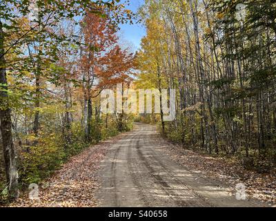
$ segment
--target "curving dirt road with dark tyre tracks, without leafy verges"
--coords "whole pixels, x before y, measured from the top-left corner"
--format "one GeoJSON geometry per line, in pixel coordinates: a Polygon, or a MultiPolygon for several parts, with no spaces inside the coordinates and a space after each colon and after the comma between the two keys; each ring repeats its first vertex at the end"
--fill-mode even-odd
{"type": "Polygon", "coordinates": [[[110,145],[99,171],[99,206],[265,206],[236,200],[226,184],[179,166],[156,128],[135,124],[110,145]]]}

